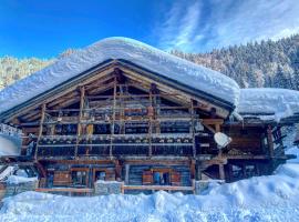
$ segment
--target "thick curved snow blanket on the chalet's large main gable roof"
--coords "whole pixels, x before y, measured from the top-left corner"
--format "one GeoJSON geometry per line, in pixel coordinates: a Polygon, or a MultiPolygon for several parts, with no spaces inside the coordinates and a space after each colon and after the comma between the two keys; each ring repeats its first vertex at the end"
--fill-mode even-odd
{"type": "Polygon", "coordinates": [[[109,59],[123,59],[153,72],[237,104],[239,87],[230,78],[126,38],[107,38],[0,91],[0,113],[79,75],[109,59]]]}

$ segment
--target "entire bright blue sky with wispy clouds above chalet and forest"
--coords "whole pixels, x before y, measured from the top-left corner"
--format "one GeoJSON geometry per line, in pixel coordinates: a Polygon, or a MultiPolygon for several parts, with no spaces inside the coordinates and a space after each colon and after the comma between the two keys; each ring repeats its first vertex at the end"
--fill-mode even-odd
{"type": "Polygon", "coordinates": [[[106,37],[205,52],[299,32],[299,0],[0,0],[0,57],[51,58],[106,37]]]}

